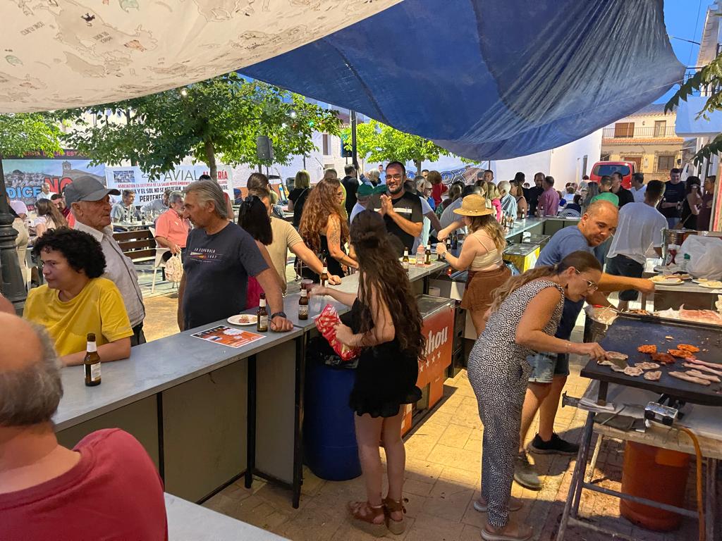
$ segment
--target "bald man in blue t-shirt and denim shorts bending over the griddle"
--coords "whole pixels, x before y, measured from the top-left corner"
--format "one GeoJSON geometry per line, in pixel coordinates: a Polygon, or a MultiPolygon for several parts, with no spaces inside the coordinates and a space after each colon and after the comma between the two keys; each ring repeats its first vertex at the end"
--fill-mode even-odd
{"type": "MultiPolygon", "coordinates": [[[[560,229],[541,250],[536,266],[556,265],[567,255],[578,250],[593,253],[594,247],[601,245],[617,229],[619,208],[609,201],[599,200],[592,203],[576,227],[560,229]]],[[[589,304],[611,306],[604,292],[636,289],[643,293],[654,291],[654,284],[643,278],[626,278],[602,274],[599,284],[591,284],[586,300],[589,304]]],[[[584,302],[564,301],[562,320],[554,335],[569,340],[577,317],[584,302]]],[[[559,408],[562,389],[569,375],[569,356],[567,353],[536,353],[526,359],[531,365],[529,387],[526,389],[521,413],[519,434],[519,454],[516,461],[514,479],[520,485],[539,490],[541,481],[524,450],[524,441],[529,432],[536,412],[539,411],[539,434],[534,436],[529,449],[539,454],[577,454],[578,444],[565,441],[554,432],[554,418],[559,408]]]]}

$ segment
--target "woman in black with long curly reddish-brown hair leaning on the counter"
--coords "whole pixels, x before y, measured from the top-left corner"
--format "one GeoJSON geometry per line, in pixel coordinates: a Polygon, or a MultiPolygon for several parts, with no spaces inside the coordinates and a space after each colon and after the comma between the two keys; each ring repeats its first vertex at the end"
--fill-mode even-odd
{"type": "MultiPolygon", "coordinates": [[[[306,200],[298,233],[303,242],[326,263],[329,275],[344,276],[342,265],[358,268],[358,263],[344,251],[349,225],[342,218],[344,190],[337,178],[324,177],[306,200]]],[[[303,277],[318,281],[318,274],[303,268],[303,277]]]]}

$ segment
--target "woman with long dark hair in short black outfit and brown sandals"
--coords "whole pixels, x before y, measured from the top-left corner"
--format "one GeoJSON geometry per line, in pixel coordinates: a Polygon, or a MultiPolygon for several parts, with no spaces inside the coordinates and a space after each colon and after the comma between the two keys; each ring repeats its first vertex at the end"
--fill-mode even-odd
{"type": "Polygon", "coordinates": [[[362,353],[349,405],[355,410],[356,439],[367,501],[349,503],[355,519],[404,531],[402,488],[406,452],[401,440],[404,404],[421,398],[416,386],[425,351],[422,319],[406,271],[388,241],[380,214],[362,211],[351,226],[351,244],[359,261],[357,294],[335,288],[313,289],[352,307],[351,327],[339,324],[336,338],[362,353]],[[388,494],[381,497],[382,466],[378,443],[386,451],[388,494]]]}

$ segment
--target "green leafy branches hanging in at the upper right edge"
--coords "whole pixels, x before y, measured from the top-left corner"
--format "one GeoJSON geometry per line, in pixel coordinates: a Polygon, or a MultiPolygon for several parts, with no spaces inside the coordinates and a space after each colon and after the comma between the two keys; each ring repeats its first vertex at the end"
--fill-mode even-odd
{"type": "MultiPolygon", "coordinates": [[[[722,110],[722,53],[679,87],[677,93],[664,106],[664,112],[669,113],[679,107],[680,101],[686,102],[688,97],[700,89],[709,92],[709,96],[703,109],[697,113],[697,118],[709,120],[709,114],[722,110]]],[[[722,133],[697,151],[693,157],[695,165],[709,160],[712,154],[720,154],[720,151],[722,151],[722,133]]]]}

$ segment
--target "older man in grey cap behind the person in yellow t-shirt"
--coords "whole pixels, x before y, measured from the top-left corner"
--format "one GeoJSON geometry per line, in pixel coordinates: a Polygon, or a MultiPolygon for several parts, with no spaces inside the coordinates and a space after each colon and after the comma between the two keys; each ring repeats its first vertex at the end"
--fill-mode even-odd
{"type": "Polygon", "coordinates": [[[123,255],[118,242],[113,239],[113,227],[110,225],[110,194],[120,195],[115,189],[105,188],[93,177],[78,177],[65,188],[65,201],[75,216],[74,229],[91,234],[105,255],[105,274],[113,281],[123,296],[128,318],[133,327],[131,346],[145,343],[143,320],[145,307],[138,286],[138,275],[133,261],[123,255]]]}

